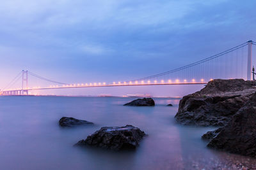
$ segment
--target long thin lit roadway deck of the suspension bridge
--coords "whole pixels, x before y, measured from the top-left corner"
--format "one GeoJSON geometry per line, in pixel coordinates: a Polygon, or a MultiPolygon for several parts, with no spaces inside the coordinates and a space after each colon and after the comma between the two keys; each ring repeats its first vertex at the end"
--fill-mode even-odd
{"type": "Polygon", "coordinates": [[[125,86],[146,86],[146,85],[205,85],[207,82],[186,82],[186,83],[112,83],[112,84],[92,84],[92,85],[63,85],[53,87],[28,87],[25,89],[12,89],[0,91],[2,96],[16,96],[28,94],[29,90],[51,90],[51,89],[74,89],[74,88],[88,88],[88,87],[125,87],[125,86]],[[23,91],[23,92],[22,92],[23,91]]]}

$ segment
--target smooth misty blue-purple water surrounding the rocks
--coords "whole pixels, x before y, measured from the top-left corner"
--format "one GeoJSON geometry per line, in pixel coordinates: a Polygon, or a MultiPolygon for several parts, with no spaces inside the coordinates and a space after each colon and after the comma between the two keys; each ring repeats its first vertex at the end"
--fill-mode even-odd
{"type": "Polygon", "coordinates": [[[0,97],[0,169],[198,169],[254,159],[206,147],[212,127],[175,123],[179,99],[154,98],[155,107],[122,106],[122,97],[0,97]],[[166,104],[173,104],[167,107],[166,104]],[[61,117],[94,126],[61,128],[61,117]],[[134,125],[148,134],[137,150],[77,148],[103,126],[134,125]]]}

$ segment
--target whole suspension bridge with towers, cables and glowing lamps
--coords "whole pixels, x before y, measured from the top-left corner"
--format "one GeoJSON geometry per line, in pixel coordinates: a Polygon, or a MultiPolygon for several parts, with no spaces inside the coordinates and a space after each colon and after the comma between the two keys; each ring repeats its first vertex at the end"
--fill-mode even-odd
{"type": "Polygon", "coordinates": [[[256,56],[253,56],[256,54],[256,48],[254,47],[256,47],[255,41],[247,41],[241,45],[234,46],[223,52],[170,71],[134,80],[113,81],[110,83],[63,83],[39,76],[31,71],[22,70],[6,87],[0,90],[0,96],[23,96],[28,95],[31,90],[47,89],[145,85],[200,85],[206,84],[208,81],[216,78],[243,78],[244,80],[252,80],[252,64],[256,63],[256,56]],[[29,81],[32,78],[35,79],[33,83],[29,81]],[[41,87],[38,85],[39,80],[51,83],[51,85],[45,85],[44,83],[44,87],[41,87]],[[37,84],[35,82],[37,82],[37,84]],[[17,83],[19,83],[19,85],[17,85],[17,83]]]}

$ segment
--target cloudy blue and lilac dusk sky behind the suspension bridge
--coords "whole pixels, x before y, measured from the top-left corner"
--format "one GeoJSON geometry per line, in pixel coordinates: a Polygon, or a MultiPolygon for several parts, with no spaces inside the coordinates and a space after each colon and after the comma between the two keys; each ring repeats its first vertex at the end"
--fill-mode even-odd
{"type": "MultiPolygon", "coordinates": [[[[2,1],[0,89],[22,69],[80,83],[131,80],[184,66],[256,41],[255,6],[253,0],[2,1]]],[[[49,93],[181,96],[202,86],[189,88],[49,93]]]]}

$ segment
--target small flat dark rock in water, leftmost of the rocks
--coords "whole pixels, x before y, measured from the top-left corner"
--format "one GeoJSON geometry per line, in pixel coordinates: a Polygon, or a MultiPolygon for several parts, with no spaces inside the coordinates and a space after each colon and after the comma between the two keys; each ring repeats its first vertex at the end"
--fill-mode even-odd
{"type": "Polygon", "coordinates": [[[74,125],[92,125],[92,122],[87,122],[86,120],[79,120],[72,117],[62,117],[59,120],[59,124],[62,127],[72,127],[74,125]]]}

